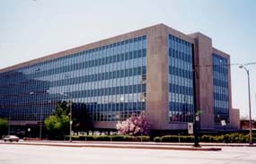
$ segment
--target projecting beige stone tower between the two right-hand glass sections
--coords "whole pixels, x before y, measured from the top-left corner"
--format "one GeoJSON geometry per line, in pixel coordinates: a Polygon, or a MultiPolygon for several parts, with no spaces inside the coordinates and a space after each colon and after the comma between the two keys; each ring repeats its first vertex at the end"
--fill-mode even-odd
{"type": "Polygon", "coordinates": [[[190,35],[195,43],[195,72],[196,72],[196,109],[204,111],[200,116],[201,129],[214,129],[214,84],[213,84],[213,57],[212,39],[201,33],[190,35]]]}

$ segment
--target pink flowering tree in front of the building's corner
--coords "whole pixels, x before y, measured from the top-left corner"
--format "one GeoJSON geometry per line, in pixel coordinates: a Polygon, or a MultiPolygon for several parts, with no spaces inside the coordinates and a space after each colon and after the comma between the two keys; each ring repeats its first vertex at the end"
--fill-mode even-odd
{"type": "Polygon", "coordinates": [[[149,133],[151,123],[144,115],[136,116],[133,114],[127,120],[118,122],[116,126],[119,134],[140,135],[149,133]]]}

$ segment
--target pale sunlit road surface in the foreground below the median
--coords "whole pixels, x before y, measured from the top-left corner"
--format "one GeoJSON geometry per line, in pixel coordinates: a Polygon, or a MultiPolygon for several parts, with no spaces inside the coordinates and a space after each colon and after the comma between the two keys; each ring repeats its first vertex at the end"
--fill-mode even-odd
{"type": "Polygon", "coordinates": [[[0,164],[218,164],[256,163],[256,147],[223,151],[167,151],[0,144],[0,164]]]}

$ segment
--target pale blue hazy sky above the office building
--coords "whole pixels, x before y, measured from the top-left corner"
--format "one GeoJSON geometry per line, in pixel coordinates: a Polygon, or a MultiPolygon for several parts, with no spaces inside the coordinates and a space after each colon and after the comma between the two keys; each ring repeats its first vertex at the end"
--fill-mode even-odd
{"type": "MultiPolygon", "coordinates": [[[[0,0],[0,69],[158,23],[200,31],[232,64],[256,62],[255,0],[0,0]]],[[[256,65],[247,68],[256,119],[256,65]]],[[[231,72],[233,108],[248,117],[247,75],[231,72]]]]}

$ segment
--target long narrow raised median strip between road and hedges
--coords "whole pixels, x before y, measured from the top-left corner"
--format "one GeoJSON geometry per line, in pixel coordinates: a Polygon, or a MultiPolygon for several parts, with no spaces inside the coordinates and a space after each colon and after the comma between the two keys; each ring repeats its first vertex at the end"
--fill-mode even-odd
{"type": "Polygon", "coordinates": [[[0,142],[0,144],[59,146],[59,147],[89,147],[89,148],[119,148],[119,149],[147,149],[147,150],[175,150],[175,151],[221,151],[216,147],[192,147],[192,144],[164,144],[155,142],[0,142]]]}

